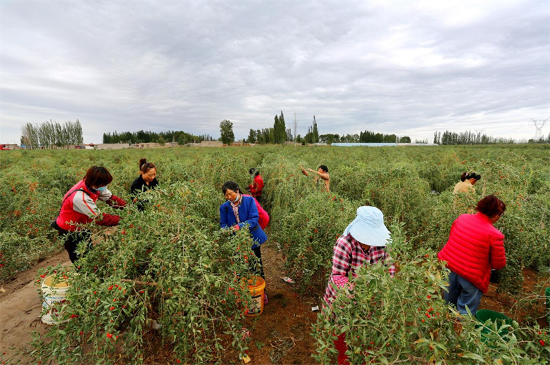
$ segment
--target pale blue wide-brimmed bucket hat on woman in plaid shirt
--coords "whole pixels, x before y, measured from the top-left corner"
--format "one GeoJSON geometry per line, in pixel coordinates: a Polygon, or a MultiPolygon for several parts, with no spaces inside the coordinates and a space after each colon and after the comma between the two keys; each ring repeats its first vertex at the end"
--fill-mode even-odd
{"type": "Polygon", "coordinates": [[[390,231],[384,226],[384,214],[375,207],[359,207],[355,220],[347,226],[344,236],[351,234],[362,244],[375,247],[391,243],[390,231]]]}

